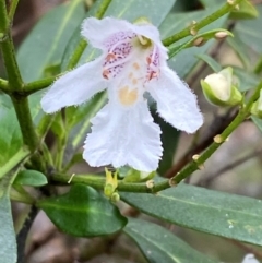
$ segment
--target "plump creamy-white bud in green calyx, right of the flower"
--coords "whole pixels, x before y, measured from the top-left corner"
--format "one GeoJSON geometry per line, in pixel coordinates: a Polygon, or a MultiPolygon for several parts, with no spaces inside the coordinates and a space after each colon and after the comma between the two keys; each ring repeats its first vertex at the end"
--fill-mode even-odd
{"type": "Polygon", "coordinates": [[[201,80],[205,98],[216,106],[235,106],[242,101],[242,95],[233,84],[230,67],[201,80]]]}

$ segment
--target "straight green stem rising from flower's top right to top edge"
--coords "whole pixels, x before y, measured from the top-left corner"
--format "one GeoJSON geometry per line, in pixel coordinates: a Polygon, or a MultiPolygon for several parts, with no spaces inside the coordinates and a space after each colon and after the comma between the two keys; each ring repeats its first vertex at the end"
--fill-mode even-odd
{"type": "Polygon", "coordinates": [[[167,37],[166,39],[163,40],[164,46],[170,46],[171,44],[187,37],[187,36],[191,36],[191,32],[192,29],[194,32],[198,32],[199,29],[201,29],[202,27],[211,24],[212,22],[218,20],[219,17],[222,17],[223,15],[225,15],[226,13],[229,13],[231,10],[235,9],[235,7],[237,4],[239,4],[242,0],[235,0],[234,4],[229,4],[229,3],[225,3],[221,9],[218,9],[217,11],[215,11],[214,13],[212,13],[211,15],[206,16],[205,19],[196,22],[193,25],[188,26],[187,28],[178,32],[177,34],[167,37]]]}

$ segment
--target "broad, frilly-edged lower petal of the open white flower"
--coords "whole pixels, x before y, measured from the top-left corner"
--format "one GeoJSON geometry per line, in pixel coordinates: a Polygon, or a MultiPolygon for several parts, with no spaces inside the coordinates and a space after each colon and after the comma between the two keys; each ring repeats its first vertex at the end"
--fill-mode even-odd
{"type": "Polygon", "coordinates": [[[163,151],[160,129],[153,122],[146,101],[129,109],[109,101],[92,123],[83,153],[91,166],[129,165],[138,170],[156,170],[163,151]]]}

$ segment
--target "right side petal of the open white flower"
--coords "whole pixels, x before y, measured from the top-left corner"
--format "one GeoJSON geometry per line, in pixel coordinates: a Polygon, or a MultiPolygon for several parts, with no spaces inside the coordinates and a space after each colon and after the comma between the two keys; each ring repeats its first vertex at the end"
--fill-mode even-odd
{"type": "Polygon", "coordinates": [[[157,103],[158,113],[175,128],[193,133],[202,125],[195,95],[170,69],[162,68],[159,79],[152,80],[147,91],[157,103]]]}

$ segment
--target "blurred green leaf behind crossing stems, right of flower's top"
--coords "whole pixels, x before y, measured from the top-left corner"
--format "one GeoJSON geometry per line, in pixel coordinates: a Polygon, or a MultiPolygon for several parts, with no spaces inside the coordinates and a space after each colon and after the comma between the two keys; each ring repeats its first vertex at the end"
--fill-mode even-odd
{"type": "MultiPolygon", "coordinates": [[[[204,10],[204,11],[168,14],[166,20],[163,22],[163,24],[159,27],[163,38],[174,35],[175,33],[188,26],[189,22],[193,20],[200,21],[202,17],[205,17],[206,15],[211,14],[215,10],[217,10],[217,7],[213,7],[212,9],[204,10]]],[[[223,17],[218,19],[211,25],[207,25],[204,28],[202,28],[200,33],[219,28],[224,25],[226,20],[227,20],[227,15],[224,15],[223,17]]],[[[181,44],[184,44],[191,38],[192,38],[191,36],[183,38],[182,40],[176,43],[176,45],[179,46],[181,44]]],[[[169,67],[176,70],[179,76],[186,77],[199,62],[199,59],[195,58],[195,56],[205,53],[211,48],[213,43],[214,43],[213,40],[210,40],[202,47],[192,47],[192,48],[182,50],[176,57],[174,57],[168,61],[169,67]]]]}

